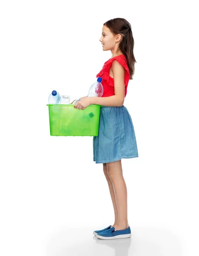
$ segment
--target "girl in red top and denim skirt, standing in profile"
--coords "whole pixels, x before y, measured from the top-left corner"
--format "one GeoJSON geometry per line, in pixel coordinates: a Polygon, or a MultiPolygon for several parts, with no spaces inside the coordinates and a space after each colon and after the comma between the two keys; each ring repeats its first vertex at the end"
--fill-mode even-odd
{"type": "Polygon", "coordinates": [[[100,239],[118,239],[131,236],[127,219],[127,189],[122,175],[122,158],[138,157],[136,137],[131,116],[123,105],[129,79],[133,79],[134,38],[131,25],[123,18],[103,24],[99,39],[103,51],[111,51],[96,77],[102,78],[102,97],[82,97],[74,108],[84,110],[91,104],[101,105],[99,134],[93,137],[93,154],[96,163],[103,164],[113,202],[115,221],[112,226],[95,230],[100,239]]]}

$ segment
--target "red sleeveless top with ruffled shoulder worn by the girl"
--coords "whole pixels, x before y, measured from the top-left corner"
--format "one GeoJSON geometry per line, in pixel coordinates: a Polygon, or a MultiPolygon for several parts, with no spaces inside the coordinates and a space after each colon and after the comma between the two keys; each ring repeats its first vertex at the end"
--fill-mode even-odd
{"type": "Polygon", "coordinates": [[[119,62],[119,64],[121,64],[125,68],[125,79],[124,79],[125,96],[127,94],[127,86],[128,86],[128,81],[130,79],[130,72],[128,69],[126,57],[125,57],[125,55],[121,54],[119,56],[110,58],[108,61],[106,61],[104,66],[102,67],[102,70],[96,76],[97,78],[98,77],[102,78],[102,82],[101,82],[102,86],[103,86],[102,97],[108,97],[108,96],[115,95],[114,79],[111,76],[109,76],[109,71],[110,71],[111,65],[115,59],[119,62]]]}

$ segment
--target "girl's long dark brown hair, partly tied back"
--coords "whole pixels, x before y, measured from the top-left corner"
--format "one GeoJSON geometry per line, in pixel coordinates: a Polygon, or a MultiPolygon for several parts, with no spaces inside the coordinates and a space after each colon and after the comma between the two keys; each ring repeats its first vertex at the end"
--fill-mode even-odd
{"type": "Polygon", "coordinates": [[[134,57],[134,38],[131,31],[131,24],[123,18],[115,18],[106,21],[103,25],[107,26],[114,35],[122,35],[122,40],[119,43],[118,49],[120,49],[126,57],[130,72],[130,80],[132,80],[135,72],[136,60],[134,57]]]}

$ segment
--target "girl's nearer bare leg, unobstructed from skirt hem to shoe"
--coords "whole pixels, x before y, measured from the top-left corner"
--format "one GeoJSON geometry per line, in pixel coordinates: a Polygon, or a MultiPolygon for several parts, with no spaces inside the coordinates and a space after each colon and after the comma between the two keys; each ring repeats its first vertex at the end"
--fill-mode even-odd
{"type": "Polygon", "coordinates": [[[124,230],[128,228],[127,219],[127,188],[122,174],[121,160],[117,162],[107,163],[108,175],[112,181],[117,209],[118,209],[118,221],[115,226],[115,230],[124,230]]]}

